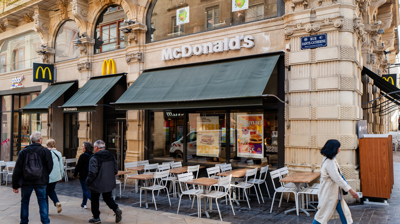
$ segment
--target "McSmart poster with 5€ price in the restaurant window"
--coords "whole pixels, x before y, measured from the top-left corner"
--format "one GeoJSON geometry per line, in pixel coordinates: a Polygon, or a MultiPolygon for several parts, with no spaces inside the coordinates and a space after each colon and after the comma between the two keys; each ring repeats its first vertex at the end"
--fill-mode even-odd
{"type": "Polygon", "coordinates": [[[264,158],[264,115],[237,115],[238,157],[264,158]]]}

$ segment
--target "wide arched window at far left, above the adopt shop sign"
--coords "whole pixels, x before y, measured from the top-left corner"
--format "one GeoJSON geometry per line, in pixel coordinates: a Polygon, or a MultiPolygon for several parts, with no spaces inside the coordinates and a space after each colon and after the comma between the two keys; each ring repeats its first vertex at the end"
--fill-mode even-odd
{"type": "Polygon", "coordinates": [[[35,32],[7,40],[0,50],[0,73],[31,68],[40,62],[36,50],[41,47],[41,38],[35,32]]]}

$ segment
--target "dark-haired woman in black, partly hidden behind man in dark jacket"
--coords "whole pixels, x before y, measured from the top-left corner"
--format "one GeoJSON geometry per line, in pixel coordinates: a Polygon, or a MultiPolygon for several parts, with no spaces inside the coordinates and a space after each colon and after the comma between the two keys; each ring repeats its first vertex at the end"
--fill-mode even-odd
{"type": "Polygon", "coordinates": [[[84,142],[82,145],[82,154],[79,156],[78,162],[75,166],[74,178],[76,178],[79,174],[79,182],[81,182],[82,192],[83,192],[83,200],[81,204],[81,208],[87,209],[86,203],[90,198],[90,193],[88,192],[88,188],[86,186],[86,177],[88,176],[89,170],[89,160],[90,156],[93,154],[93,145],[90,142],[84,142]]]}

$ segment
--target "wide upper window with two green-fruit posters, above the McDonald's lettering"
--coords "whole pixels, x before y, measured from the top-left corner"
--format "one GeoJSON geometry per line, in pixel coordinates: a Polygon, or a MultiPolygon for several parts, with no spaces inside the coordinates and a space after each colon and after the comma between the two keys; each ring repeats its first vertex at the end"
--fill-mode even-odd
{"type": "Polygon", "coordinates": [[[277,16],[279,0],[154,0],[147,42],[236,26],[277,16]]]}

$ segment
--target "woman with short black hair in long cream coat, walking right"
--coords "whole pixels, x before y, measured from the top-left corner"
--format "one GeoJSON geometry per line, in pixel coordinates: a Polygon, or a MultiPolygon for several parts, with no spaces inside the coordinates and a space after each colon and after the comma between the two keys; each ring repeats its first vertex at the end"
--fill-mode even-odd
{"type": "Polygon", "coordinates": [[[337,218],[337,214],[342,223],[353,223],[350,209],[343,198],[343,192],[350,192],[353,198],[358,198],[358,194],[351,189],[336,161],[335,156],[340,151],[341,143],[335,139],[328,140],[321,149],[324,158],[320,169],[318,211],[314,216],[313,224],[327,223],[329,219],[337,218]]]}

